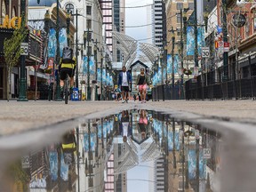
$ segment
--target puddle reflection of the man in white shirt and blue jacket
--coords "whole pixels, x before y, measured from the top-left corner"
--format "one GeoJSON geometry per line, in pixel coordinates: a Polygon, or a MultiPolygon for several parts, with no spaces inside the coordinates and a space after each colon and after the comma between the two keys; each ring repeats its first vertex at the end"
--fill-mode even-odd
{"type": "Polygon", "coordinates": [[[131,126],[129,123],[129,112],[128,110],[122,111],[121,124],[119,127],[119,134],[123,136],[123,141],[127,141],[127,137],[132,135],[131,126]]]}

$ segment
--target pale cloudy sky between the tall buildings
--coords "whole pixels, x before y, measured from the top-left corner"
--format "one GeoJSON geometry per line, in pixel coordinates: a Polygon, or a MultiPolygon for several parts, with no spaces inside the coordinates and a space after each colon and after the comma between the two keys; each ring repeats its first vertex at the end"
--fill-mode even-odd
{"type": "MultiPolygon", "coordinates": [[[[125,6],[141,6],[152,4],[153,0],[125,0],[125,6]]],[[[152,21],[150,21],[152,23],[152,21]]],[[[147,6],[140,8],[125,9],[125,26],[140,26],[149,24],[147,21],[147,6]]],[[[145,39],[148,37],[147,27],[142,28],[125,28],[125,34],[132,36],[134,39],[145,39]]]]}

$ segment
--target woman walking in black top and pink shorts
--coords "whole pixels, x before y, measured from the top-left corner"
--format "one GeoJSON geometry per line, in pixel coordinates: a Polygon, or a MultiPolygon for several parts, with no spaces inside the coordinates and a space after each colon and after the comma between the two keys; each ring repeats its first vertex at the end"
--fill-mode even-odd
{"type": "Polygon", "coordinates": [[[148,76],[145,74],[145,69],[140,68],[140,74],[137,76],[137,86],[139,86],[141,103],[146,102],[148,85],[149,85],[149,81],[148,81],[148,76]]]}

